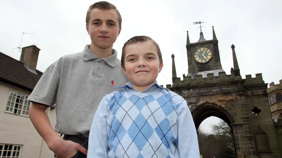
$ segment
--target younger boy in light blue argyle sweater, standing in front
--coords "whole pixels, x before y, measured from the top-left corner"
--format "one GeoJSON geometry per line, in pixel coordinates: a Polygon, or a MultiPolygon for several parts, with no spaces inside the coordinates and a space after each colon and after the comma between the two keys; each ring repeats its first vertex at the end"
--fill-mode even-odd
{"type": "Polygon", "coordinates": [[[122,48],[129,82],[103,97],[89,134],[88,158],[199,158],[196,128],[186,101],[158,85],[162,55],[147,36],[122,48]]]}

